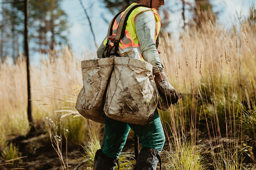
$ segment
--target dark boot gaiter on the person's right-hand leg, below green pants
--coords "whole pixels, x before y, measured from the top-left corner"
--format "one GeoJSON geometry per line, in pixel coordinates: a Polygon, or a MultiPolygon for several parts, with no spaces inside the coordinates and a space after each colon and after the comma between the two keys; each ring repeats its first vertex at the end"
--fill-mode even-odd
{"type": "Polygon", "coordinates": [[[160,162],[160,170],[162,169],[161,154],[155,149],[143,147],[140,150],[134,170],[156,170],[158,161],[160,162]]]}

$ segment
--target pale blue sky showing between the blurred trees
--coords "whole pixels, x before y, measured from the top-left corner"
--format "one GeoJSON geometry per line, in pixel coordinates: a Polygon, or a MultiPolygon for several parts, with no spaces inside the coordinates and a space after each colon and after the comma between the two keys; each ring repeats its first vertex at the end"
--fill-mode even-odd
{"type": "MultiPolygon", "coordinates": [[[[103,17],[105,20],[110,22],[113,15],[104,8],[104,4],[100,3],[100,0],[82,0],[82,2],[91,18],[92,27],[96,36],[96,42],[99,45],[102,39],[106,36],[108,30],[108,23],[104,21],[103,17]]],[[[186,0],[186,2],[193,3],[193,0],[186,0]]],[[[256,0],[211,0],[211,3],[214,6],[213,10],[220,12],[218,16],[219,21],[226,27],[230,27],[232,24],[237,22],[236,12],[240,15],[241,11],[242,16],[248,16],[249,9],[252,7],[252,4],[254,4],[255,7],[256,0]]],[[[81,52],[87,49],[95,50],[96,48],[91,35],[89,23],[79,1],[64,0],[62,5],[64,11],[66,11],[68,14],[71,26],[68,38],[74,52],[81,54],[81,52]]],[[[173,8],[173,12],[170,15],[171,24],[168,31],[175,33],[183,22],[181,18],[180,0],[165,0],[165,5],[163,7],[173,8]]],[[[159,13],[161,15],[161,8],[159,13]]],[[[189,13],[187,12],[186,18],[189,19],[189,17],[189,13]]]]}

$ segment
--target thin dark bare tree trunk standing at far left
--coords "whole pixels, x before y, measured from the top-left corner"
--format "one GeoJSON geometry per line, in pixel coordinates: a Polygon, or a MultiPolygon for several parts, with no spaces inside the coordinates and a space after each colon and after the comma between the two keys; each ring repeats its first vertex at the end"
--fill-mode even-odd
{"type": "Polygon", "coordinates": [[[31,92],[30,92],[30,74],[29,74],[29,51],[28,51],[28,0],[24,0],[25,14],[25,31],[24,31],[24,52],[27,59],[27,82],[28,82],[28,122],[30,131],[29,134],[35,132],[34,121],[32,118],[31,92]]]}

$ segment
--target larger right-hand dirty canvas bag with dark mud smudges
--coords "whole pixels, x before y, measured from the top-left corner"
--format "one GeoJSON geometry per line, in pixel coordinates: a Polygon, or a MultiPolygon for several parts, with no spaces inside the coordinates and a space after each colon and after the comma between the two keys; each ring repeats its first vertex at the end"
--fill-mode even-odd
{"type": "Polygon", "coordinates": [[[114,58],[104,107],[108,117],[139,125],[154,120],[158,96],[152,68],[151,64],[142,60],[114,58]]]}

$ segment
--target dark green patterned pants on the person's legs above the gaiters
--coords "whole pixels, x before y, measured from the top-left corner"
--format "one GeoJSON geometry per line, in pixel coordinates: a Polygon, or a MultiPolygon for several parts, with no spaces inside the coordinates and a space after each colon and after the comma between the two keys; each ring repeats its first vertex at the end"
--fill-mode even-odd
{"type": "Polygon", "coordinates": [[[125,123],[111,119],[105,115],[105,141],[102,152],[112,158],[121,153],[130,128],[140,138],[142,147],[149,147],[161,152],[164,147],[164,130],[157,109],[154,121],[146,125],[125,123]]]}

